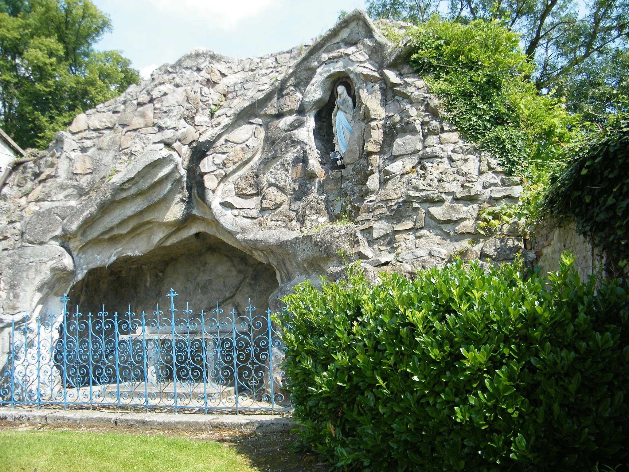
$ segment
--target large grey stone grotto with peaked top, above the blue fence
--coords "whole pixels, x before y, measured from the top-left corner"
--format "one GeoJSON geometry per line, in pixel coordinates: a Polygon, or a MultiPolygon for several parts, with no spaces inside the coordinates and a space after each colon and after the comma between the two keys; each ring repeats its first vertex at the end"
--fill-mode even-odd
{"type": "Polygon", "coordinates": [[[11,320],[60,313],[64,293],[84,310],[148,311],[170,287],[195,310],[277,310],[294,284],[342,276],[343,257],[375,281],[523,252],[517,224],[474,225],[519,179],[465,142],[405,57],[354,11],[287,52],[193,50],[76,116],[0,195],[0,364],[11,320]]]}

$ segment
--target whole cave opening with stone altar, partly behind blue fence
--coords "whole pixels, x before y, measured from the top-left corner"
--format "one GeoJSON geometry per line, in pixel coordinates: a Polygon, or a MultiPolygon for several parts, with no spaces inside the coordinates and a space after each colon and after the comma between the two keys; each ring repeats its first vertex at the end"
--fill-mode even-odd
{"type": "Polygon", "coordinates": [[[195,233],[88,271],[68,293],[53,362],[69,388],[144,382],[150,390],[176,381],[222,389],[237,377],[241,391],[259,398],[269,369],[255,356],[268,340],[265,310],[278,286],[272,266],[195,233]],[[171,288],[179,294],[174,313],[171,288]]]}

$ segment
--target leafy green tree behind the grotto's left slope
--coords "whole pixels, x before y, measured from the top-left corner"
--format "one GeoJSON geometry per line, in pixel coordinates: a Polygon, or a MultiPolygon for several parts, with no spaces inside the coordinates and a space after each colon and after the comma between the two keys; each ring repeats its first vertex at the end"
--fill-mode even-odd
{"type": "Polygon", "coordinates": [[[23,147],[45,147],[72,118],[139,81],[89,0],[0,0],[0,120],[23,147]]]}

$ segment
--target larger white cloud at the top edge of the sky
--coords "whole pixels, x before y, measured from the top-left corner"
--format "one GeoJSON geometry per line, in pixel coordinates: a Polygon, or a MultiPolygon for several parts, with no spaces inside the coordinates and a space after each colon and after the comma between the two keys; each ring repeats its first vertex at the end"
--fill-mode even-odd
{"type": "Polygon", "coordinates": [[[255,16],[277,0],[143,0],[163,11],[189,18],[203,18],[208,26],[230,29],[238,21],[255,16]]]}

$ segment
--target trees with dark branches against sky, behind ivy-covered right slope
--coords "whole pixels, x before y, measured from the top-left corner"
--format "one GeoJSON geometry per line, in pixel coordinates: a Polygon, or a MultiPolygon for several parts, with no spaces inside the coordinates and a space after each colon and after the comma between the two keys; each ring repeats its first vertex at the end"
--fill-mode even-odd
{"type": "MultiPolygon", "coordinates": [[[[613,87],[617,80],[612,76],[622,72],[613,64],[626,57],[629,47],[626,0],[367,0],[367,11],[413,23],[440,12],[464,23],[499,20],[520,35],[522,50],[536,66],[532,80],[537,89],[567,92],[573,108],[579,108],[581,91],[567,84],[582,85],[589,76],[609,72],[610,77],[599,80],[613,87]]],[[[614,106],[609,102],[603,108],[614,106]]]]}

